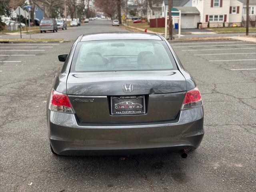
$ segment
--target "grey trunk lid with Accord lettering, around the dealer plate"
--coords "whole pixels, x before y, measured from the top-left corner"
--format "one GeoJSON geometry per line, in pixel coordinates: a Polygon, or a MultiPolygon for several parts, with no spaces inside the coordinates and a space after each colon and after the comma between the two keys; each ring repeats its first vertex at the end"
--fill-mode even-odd
{"type": "Polygon", "coordinates": [[[81,123],[156,122],[176,118],[186,80],[178,70],[70,73],[67,94],[81,123]],[[124,92],[125,84],[132,92],[124,92]],[[112,114],[112,96],[145,96],[145,114],[112,114]]]}

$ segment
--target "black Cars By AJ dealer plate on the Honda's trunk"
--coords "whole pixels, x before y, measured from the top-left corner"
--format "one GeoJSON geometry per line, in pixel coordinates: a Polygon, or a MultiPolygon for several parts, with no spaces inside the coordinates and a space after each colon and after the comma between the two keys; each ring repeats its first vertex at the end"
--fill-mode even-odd
{"type": "Polygon", "coordinates": [[[145,114],[145,96],[111,97],[112,115],[145,114]]]}

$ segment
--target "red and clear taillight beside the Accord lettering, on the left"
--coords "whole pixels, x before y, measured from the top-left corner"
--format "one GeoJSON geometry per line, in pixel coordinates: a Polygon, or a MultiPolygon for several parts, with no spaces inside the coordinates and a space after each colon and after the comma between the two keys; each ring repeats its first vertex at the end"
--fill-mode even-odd
{"type": "Polygon", "coordinates": [[[74,113],[68,96],[55,90],[52,90],[49,109],[58,112],[74,113]]]}

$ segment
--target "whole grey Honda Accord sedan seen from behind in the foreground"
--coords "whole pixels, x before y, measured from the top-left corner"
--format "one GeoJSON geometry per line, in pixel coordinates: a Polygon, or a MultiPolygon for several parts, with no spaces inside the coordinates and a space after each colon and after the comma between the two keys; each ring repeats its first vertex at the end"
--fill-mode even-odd
{"type": "Polygon", "coordinates": [[[162,36],[81,35],[58,57],[64,65],[47,104],[54,154],[186,157],[200,145],[200,92],[162,36]]]}

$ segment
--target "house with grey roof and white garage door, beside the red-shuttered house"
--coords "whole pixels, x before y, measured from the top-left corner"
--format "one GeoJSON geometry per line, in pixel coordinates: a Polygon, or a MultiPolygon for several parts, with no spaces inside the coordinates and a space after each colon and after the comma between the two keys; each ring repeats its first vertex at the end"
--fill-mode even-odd
{"type": "MultiPolygon", "coordinates": [[[[181,28],[196,28],[200,21],[200,12],[196,7],[192,7],[192,0],[173,0],[173,7],[181,11],[181,28]]],[[[168,0],[163,0],[162,17],[168,11],[168,0]]],[[[173,24],[178,23],[177,18],[173,18],[173,24]]]]}

